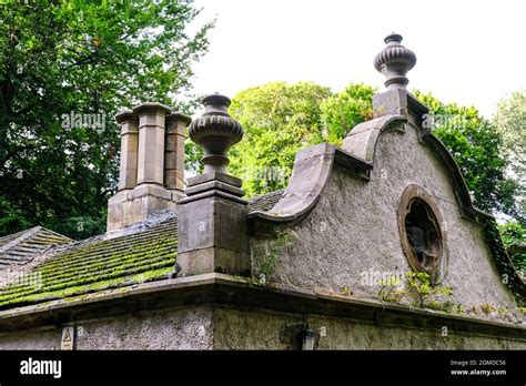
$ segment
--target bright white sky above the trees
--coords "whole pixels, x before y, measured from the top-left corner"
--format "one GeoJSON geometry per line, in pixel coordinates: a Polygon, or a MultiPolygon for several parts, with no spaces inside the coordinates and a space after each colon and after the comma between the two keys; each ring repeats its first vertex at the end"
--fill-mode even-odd
{"type": "Polygon", "coordinates": [[[196,0],[195,26],[216,19],[195,65],[198,94],[230,98],[271,81],[350,82],[384,90],[373,67],[391,32],[416,53],[408,89],[475,105],[490,118],[526,89],[525,0],[196,0]]]}

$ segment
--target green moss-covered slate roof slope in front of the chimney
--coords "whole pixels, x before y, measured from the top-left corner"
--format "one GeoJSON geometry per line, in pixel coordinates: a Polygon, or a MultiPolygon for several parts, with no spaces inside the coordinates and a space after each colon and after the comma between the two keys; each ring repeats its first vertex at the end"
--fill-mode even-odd
{"type": "Polygon", "coordinates": [[[176,252],[175,219],[115,238],[61,246],[0,287],[0,309],[166,278],[174,271],[176,252]]]}

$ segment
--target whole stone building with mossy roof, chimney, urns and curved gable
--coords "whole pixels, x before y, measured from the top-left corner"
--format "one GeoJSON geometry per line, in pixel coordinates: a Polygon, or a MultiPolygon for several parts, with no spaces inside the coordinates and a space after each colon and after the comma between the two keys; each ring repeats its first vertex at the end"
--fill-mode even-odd
{"type": "Polygon", "coordinates": [[[406,90],[401,41],[374,61],[374,119],[250,201],[226,170],[243,136],[227,98],[193,122],[159,103],[119,114],[108,233],[0,238],[0,347],[526,348],[525,284],[406,90]],[[204,173],[184,185],[189,124],[204,173]]]}

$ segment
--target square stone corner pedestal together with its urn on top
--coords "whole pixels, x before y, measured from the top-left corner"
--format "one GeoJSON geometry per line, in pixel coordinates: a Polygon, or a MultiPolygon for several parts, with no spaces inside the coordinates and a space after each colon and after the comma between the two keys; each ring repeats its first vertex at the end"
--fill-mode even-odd
{"type": "Polygon", "coordinates": [[[179,205],[180,275],[247,275],[247,202],[241,180],[226,173],[227,151],[241,141],[243,130],[229,115],[229,98],[209,95],[203,104],[203,115],[190,125],[190,139],[203,148],[204,173],[189,179],[179,205]]]}

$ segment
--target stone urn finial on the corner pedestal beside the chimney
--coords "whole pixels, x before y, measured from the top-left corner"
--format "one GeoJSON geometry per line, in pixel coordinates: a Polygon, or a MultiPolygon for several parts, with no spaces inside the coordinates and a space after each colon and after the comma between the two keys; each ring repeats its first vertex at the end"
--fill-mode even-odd
{"type": "Polygon", "coordinates": [[[204,113],[190,124],[190,139],[203,148],[204,172],[226,173],[226,152],[243,138],[240,122],[229,115],[230,99],[214,93],[203,98],[204,113]]]}

